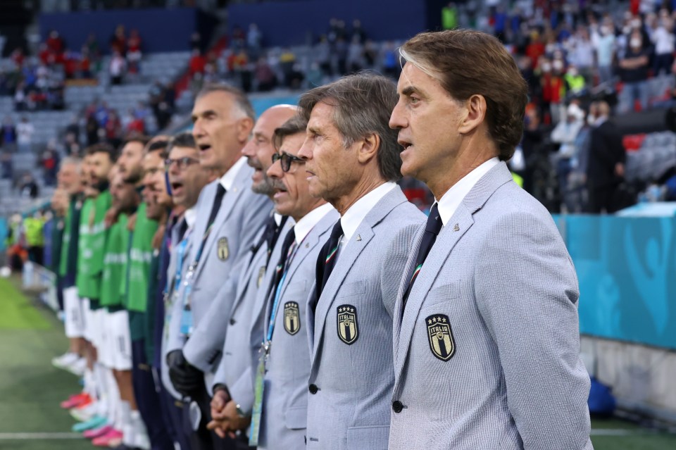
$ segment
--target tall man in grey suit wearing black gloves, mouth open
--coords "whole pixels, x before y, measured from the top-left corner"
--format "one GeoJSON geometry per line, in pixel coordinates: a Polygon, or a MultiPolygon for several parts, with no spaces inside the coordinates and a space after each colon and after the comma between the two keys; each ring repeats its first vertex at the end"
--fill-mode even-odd
{"type": "MultiPolygon", "coordinates": [[[[272,207],[270,200],[251,190],[253,170],[242,148],[253,127],[253,108],[244,93],[228,85],[208,85],[197,95],[192,133],[204,168],[219,178],[202,190],[195,206],[196,222],[189,236],[184,278],[169,324],[169,375],[175,389],[192,401],[184,413],[196,432],[194,449],[223,447],[206,430],[210,420],[213,373],[218,367],[232,297],[223,296],[234,268],[249,248],[272,207]]],[[[226,445],[233,448],[234,444],[226,445]]]]}

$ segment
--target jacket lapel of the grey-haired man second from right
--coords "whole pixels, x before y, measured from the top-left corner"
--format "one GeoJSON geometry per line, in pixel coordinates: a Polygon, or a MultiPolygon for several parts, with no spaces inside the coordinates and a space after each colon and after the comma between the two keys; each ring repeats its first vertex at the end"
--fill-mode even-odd
{"type": "Polygon", "coordinates": [[[392,191],[385,194],[382,199],[366,214],[364,220],[357,227],[354,235],[346,244],[344,249],[338,254],[338,261],[333,268],[333,272],[326,282],[326,286],[322,291],[322,296],[318,300],[317,310],[315,313],[315,330],[320,332],[320,335],[313,335],[313,358],[318,355],[319,344],[322,340],[323,330],[327,318],[327,314],[333,304],[336,295],[343,282],[351,270],[354,262],[357,260],[361,252],[366,248],[373,236],[373,227],[380,223],[396,206],[408,201],[406,196],[401,192],[399,186],[394,187],[392,191]]]}

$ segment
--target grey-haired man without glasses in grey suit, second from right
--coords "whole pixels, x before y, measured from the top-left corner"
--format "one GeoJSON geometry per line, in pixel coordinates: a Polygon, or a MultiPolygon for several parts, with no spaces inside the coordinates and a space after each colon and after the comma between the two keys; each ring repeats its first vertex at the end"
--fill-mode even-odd
{"type": "Polygon", "coordinates": [[[387,448],[394,299],[425,219],[395,183],[401,148],[387,125],[394,104],[394,83],[373,74],[299,101],[308,127],[298,156],[310,193],[340,213],[308,299],[308,449],[387,448]]]}

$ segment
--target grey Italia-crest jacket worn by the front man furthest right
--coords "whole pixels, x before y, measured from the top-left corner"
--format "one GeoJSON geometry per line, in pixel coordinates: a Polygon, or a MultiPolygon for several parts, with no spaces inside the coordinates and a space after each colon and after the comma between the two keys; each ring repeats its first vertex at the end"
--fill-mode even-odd
{"type": "Polygon", "coordinates": [[[394,320],[390,449],[592,449],[577,277],[505,163],[465,196],[394,320]]]}

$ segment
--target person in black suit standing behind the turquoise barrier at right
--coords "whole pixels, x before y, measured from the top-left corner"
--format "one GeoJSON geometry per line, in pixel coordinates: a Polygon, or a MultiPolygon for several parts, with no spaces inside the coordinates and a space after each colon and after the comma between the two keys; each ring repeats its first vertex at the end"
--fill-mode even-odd
{"type": "Polygon", "coordinates": [[[622,135],[610,120],[611,108],[605,101],[599,102],[597,114],[589,136],[589,212],[614,213],[624,206],[620,185],[625,177],[627,154],[622,146],[622,135]]]}

